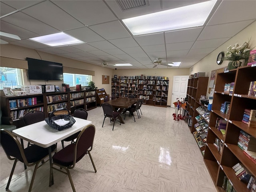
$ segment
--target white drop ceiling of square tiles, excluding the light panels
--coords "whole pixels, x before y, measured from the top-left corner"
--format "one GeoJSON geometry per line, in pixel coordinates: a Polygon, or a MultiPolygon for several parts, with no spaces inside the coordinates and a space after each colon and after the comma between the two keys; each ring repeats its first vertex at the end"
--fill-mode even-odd
{"type": "Polygon", "coordinates": [[[255,0],[218,0],[203,26],[156,34],[133,36],[122,19],[199,2],[203,1],[149,0],[123,10],[115,0],[1,0],[0,30],[16,34],[21,40],[1,39],[85,64],[101,66],[105,61],[106,67],[113,69],[152,68],[156,58],[165,63],[182,62],[172,68],[190,68],[256,21],[255,0]],[[28,40],[61,31],[85,43],[50,47],[28,40]],[[133,66],[112,66],[117,63],[133,66]]]}

